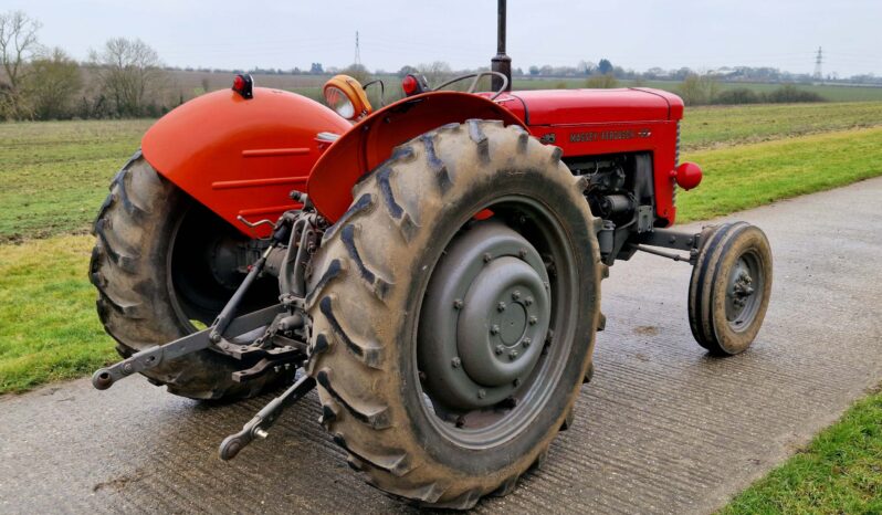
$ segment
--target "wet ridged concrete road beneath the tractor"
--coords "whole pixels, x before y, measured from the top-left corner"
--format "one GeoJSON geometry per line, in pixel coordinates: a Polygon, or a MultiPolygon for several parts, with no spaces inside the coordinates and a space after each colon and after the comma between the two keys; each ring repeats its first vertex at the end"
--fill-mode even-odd
{"type": "MultiPolygon", "coordinates": [[[[690,267],[638,255],[605,283],[607,330],[575,427],[486,513],[707,513],[882,380],[882,178],[739,213],[775,254],[753,348],[708,357],[690,267]]],[[[0,512],[389,513],[318,425],[314,395],[231,463],[218,443],[266,401],[207,406],[140,378],[0,398],[0,512]]]]}

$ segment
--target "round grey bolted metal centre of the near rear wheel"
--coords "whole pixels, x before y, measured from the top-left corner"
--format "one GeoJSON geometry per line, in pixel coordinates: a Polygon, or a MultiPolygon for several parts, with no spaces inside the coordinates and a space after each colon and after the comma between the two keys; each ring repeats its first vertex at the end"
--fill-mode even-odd
{"type": "Polygon", "coordinates": [[[459,235],[432,273],[420,316],[424,386],[447,408],[511,397],[542,355],[548,275],[529,242],[500,222],[459,235]]]}

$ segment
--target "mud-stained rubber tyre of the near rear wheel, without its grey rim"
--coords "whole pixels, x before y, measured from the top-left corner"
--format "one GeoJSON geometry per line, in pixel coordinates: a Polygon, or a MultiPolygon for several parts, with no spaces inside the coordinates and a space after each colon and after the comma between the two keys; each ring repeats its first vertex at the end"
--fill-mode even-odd
{"type": "Polygon", "coordinates": [[[318,382],[322,423],[371,484],[420,505],[469,508],[512,491],[571,420],[601,325],[606,274],[581,186],[558,148],[521,127],[481,120],[412,139],[356,185],[355,201],[313,261],[308,372],[318,382]],[[571,285],[553,280],[550,290],[569,295],[578,316],[554,335],[550,353],[559,358],[559,346],[566,359],[554,365],[538,416],[507,440],[469,448],[442,435],[427,412],[414,358],[419,312],[459,228],[489,199],[517,195],[557,220],[574,275],[571,285]]]}

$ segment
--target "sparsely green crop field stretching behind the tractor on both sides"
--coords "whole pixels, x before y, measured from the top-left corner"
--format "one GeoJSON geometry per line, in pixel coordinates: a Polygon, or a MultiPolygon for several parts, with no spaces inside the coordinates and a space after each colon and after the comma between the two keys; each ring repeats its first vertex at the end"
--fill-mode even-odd
{"type": "MultiPolygon", "coordinates": [[[[111,178],[150,124],[0,124],[0,243],[86,232],[111,178]]],[[[882,102],[695,107],[686,109],[682,139],[693,151],[878,125],[882,102]]]]}

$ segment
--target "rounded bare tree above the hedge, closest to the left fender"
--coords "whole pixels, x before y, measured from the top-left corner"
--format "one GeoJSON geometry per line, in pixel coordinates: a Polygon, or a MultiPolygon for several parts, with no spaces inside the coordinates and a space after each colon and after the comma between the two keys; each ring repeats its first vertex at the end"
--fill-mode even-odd
{"type": "Polygon", "coordinates": [[[115,38],[90,56],[116,114],[143,115],[165,76],[156,51],[139,39],[115,38]]]}

